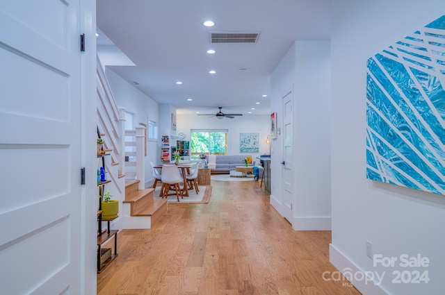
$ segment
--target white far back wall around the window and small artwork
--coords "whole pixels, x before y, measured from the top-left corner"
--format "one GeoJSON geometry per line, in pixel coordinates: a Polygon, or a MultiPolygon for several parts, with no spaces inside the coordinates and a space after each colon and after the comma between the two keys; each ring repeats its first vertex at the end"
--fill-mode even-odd
{"type": "Polygon", "coordinates": [[[240,133],[259,133],[259,153],[249,153],[258,163],[257,157],[269,153],[269,145],[266,144],[269,134],[269,118],[269,115],[243,115],[233,119],[216,119],[215,117],[178,114],[177,133],[183,132],[186,135],[185,140],[190,140],[191,129],[228,129],[228,155],[241,154],[239,152],[240,133]]]}

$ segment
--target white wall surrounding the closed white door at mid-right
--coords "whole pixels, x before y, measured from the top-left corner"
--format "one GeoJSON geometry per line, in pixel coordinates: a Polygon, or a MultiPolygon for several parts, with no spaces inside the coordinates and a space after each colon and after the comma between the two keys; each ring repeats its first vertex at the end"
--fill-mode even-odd
{"type": "MultiPolygon", "coordinates": [[[[330,230],[330,42],[296,41],[271,78],[272,111],[282,126],[283,91],[293,88],[293,219],[296,230],[330,230]]],[[[273,141],[272,194],[282,201],[282,135],[273,141]]],[[[283,213],[282,213],[283,214],[283,213]]]]}

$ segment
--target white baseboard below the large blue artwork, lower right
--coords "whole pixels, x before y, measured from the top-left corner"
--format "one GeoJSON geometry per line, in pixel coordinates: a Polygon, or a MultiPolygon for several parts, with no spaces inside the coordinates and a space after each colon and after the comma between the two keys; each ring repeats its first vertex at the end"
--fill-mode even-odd
{"type": "MultiPolygon", "coordinates": [[[[360,293],[372,294],[372,295],[388,295],[389,293],[385,292],[385,289],[380,285],[376,285],[373,281],[366,280],[354,280],[354,277],[363,278],[362,273],[366,273],[363,269],[359,269],[354,262],[350,261],[339,249],[337,249],[333,244],[329,244],[329,261],[336,267],[343,275],[345,273],[349,273],[350,283],[352,283],[360,293]],[[360,276],[356,276],[360,274],[360,276]]],[[[348,275],[345,275],[348,277],[348,275]]],[[[326,275],[329,278],[329,275],[326,275]]],[[[348,282],[348,280],[346,280],[348,282]]]]}

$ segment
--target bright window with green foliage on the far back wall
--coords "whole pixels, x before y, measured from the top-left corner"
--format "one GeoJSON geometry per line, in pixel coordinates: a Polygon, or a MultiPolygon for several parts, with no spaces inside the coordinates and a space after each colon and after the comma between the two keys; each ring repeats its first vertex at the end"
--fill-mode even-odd
{"type": "Polygon", "coordinates": [[[202,153],[227,154],[227,129],[192,129],[190,139],[192,159],[197,159],[202,153]]]}

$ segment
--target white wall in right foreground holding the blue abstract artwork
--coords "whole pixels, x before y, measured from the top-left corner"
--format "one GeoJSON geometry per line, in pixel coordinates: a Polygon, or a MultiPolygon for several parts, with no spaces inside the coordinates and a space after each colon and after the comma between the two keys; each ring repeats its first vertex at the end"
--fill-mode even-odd
{"type": "MultiPolygon", "coordinates": [[[[366,60],[445,12],[443,0],[332,1],[332,244],[341,271],[385,271],[363,294],[443,294],[445,198],[366,179],[366,60]],[[373,267],[374,254],[428,257],[428,267],[373,267]],[[429,283],[392,283],[394,270],[428,271],[429,283]]],[[[357,275],[360,278],[359,275],[357,275]]]]}

